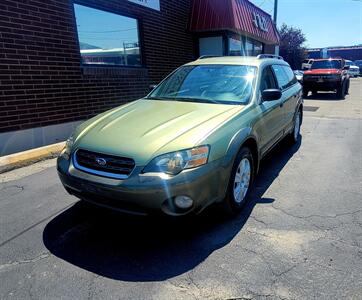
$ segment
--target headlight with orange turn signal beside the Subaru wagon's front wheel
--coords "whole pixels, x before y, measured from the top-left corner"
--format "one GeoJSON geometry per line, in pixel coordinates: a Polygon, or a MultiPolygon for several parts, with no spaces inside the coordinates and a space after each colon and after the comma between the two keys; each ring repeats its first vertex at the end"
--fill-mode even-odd
{"type": "Polygon", "coordinates": [[[176,175],[184,169],[196,168],[207,163],[209,146],[200,146],[162,154],[154,158],[144,169],[143,173],[166,173],[176,175]]]}

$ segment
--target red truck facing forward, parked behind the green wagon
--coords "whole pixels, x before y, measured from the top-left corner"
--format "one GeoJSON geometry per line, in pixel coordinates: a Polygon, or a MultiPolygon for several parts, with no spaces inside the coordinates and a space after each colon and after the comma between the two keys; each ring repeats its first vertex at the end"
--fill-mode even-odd
{"type": "Polygon", "coordinates": [[[310,70],[303,74],[303,97],[307,97],[309,91],[313,94],[335,91],[337,98],[344,99],[349,89],[348,68],[341,58],[314,60],[310,70]]]}

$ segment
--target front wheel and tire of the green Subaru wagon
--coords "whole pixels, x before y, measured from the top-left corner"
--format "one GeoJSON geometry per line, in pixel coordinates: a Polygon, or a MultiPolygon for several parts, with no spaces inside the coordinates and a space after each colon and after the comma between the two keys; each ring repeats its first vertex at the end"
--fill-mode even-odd
{"type": "Polygon", "coordinates": [[[224,212],[227,215],[236,215],[246,204],[250,188],[254,181],[254,166],[254,159],[250,149],[248,147],[242,147],[235,158],[226,197],[222,203],[224,212]],[[240,180],[239,183],[237,182],[238,180],[240,180]],[[239,195],[239,198],[237,195],[239,195]]]}

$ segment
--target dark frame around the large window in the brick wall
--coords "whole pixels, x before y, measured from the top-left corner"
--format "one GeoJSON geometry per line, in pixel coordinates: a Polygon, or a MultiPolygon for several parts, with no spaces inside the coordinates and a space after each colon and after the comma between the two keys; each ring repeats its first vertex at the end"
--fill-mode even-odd
{"type": "Polygon", "coordinates": [[[110,9],[108,7],[104,7],[102,5],[98,5],[95,3],[88,3],[87,1],[82,1],[82,0],[74,0],[70,2],[70,5],[72,6],[72,10],[73,10],[73,27],[75,28],[75,35],[76,35],[76,40],[77,40],[77,44],[78,44],[78,54],[79,54],[79,64],[81,68],[97,68],[97,69],[142,69],[145,68],[145,55],[144,55],[144,51],[143,51],[143,47],[144,47],[144,37],[143,37],[143,31],[141,30],[141,27],[143,26],[142,24],[142,18],[138,15],[133,15],[130,14],[128,12],[124,12],[122,10],[116,10],[116,9],[110,9]],[[82,55],[80,53],[80,40],[79,40],[79,33],[78,33],[78,27],[77,27],[77,18],[76,18],[76,14],[75,14],[75,7],[74,5],[81,5],[81,6],[85,6],[91,9],[96,9],[96,10],[100,10],[103,12],[107,12],[107,13],[111,13],[111,14],[115,14],[115,15],[119,15],[122,17],[126,17],[126,18],[130,18],[130,19],[134,19],[137,22],[137,36],[138,36],[138,43],[139,43],[139,47],[140,47],[140,60],[141,60],[141,64],[138,66],[130,66],[130,65],[100,65],[100,64],[84,64],[82,62],[82,55]]]}

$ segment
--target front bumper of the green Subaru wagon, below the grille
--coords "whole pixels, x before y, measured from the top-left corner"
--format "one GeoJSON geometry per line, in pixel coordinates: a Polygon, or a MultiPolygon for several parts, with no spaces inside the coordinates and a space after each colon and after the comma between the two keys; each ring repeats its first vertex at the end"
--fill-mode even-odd
{"type": "Polygon", "coordinates": [[[163,212],[178,216],[199,213],[224,198],[230,167],[223,166],[223,161],[209,162],[176,176],[142,174],[143,167],[136,166],[130,177],[119,180],[80,171],[71,160],[60,156],[57,170],[65,189],[82,200],[126,213],[163,212]],[[174,198],[181,195],[193,199],[190,209],[182,210],[174,205],[174,198]]]}

